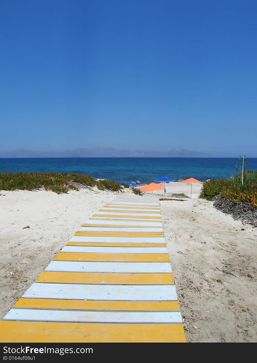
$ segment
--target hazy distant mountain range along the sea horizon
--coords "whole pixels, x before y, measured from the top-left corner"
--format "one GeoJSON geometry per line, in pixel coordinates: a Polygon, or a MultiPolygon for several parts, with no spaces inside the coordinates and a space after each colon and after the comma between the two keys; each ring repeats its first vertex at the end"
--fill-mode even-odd
{"type": "Polygon", "coordinates": [[[111,147],[78,148],[70,151],[31,151],[18,149],[0,152],[0,158],[210,158],[204,152],[188,151],[180,147],[170,151],[119,150],[111,147]]]}

